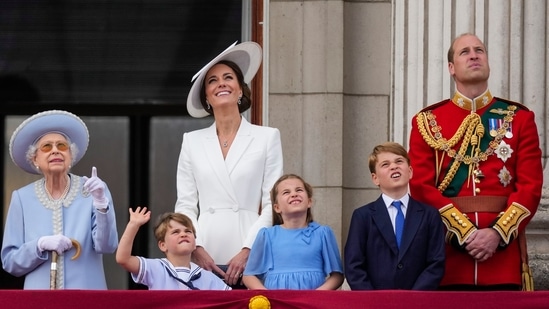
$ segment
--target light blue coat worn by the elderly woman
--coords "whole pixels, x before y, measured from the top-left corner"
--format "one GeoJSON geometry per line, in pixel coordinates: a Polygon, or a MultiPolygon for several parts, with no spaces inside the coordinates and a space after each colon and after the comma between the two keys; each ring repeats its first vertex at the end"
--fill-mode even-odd
{"type": "Polygon", "coordinates": [[[112,197],[106,189],[109,206],[100,213],[92,205],[91,196],[83,196],[83,179],[70,174],[71,188],[61,207],[62,225],[54,223],[54,211],[41,202],[44,199],[43,180],[37,180],[13,191],[2,244],[2,266],[14,276],[26,276],[25,289],[49,289],[51,254],[40,253],[38,239],[56,234],[54,226],[62,234],[77,240],[81,255],[71,257],[75,249],[59,256],[58,286],[64,289],[107,289],[103,271],[104,253],[113,253],[118,246],[118,233],[112,197]],[[70,202],[72,200],[72,202],[70,202]]]}

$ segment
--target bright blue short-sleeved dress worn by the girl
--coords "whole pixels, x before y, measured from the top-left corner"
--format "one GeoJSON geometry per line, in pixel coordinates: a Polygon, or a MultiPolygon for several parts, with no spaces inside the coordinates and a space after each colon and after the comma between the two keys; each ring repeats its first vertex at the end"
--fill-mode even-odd
{"type": "Polygon", "coordinates": [[[261,229],[244,275],[257,276],[267,289],[313,290],[332,272],[343,273],[334,233],[311,222],[301,229],[261,229]]]}

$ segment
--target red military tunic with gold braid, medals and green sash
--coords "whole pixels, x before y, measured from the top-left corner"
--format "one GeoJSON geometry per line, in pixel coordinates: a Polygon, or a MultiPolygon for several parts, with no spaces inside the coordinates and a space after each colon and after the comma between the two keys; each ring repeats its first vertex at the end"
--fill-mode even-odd
{"type": "Polygon", "coordinates": [[[409,154],[412,196],[438,208],[448,230],[441,285],[520,285],[517,233],[534,216],[543,184],[534,113],[489,91],[475,100],[456,93],[452,100],[414,116],[409,154]],[[475,121],[482,126],[467,125],[475,121]],[[473,145],[477,140],[480,146],[473,145]],[[469,143],[466,150],[463,143],[469,143]],[[473,210],[463,205],[463,213],[459,202],[450,199],[472,196],[473,210]],[[502,201],[500,212],[478,206],[477,201],[487,197],[502,201]],[[477,206],[479,211],[474,211],[477,206]],[[464,242],[477,228],[487,227],[494,228],[502,242],[491,258],[477,262],[463,249],[464,242]]]}

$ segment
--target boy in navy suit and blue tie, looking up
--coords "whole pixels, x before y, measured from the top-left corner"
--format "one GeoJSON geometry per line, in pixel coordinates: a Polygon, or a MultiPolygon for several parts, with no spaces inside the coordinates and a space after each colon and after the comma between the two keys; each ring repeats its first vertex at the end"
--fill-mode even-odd
{"type": "Polygon", "coordinates": [[[374,147],[372,181],[381,196],[355,209],[345,244],[352,290],[436,290],[444,275],[444,230],[438,210],[408,194],[412,167],[397,143],[374,147]]]}

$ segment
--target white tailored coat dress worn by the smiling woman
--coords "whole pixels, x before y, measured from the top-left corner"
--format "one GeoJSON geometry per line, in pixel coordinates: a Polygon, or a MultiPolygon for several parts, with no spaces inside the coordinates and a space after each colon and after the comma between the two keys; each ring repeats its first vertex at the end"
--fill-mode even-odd
{"type": "Polygon", "coordinates": [[[224,160],[214,123],[183,135],[175,211],[193,221],[197,246],[216,264],[227,264],[243,247],[252,247],[259,229],[272,225],[269,192],[280,176],[278,129],[242,118],[224,160]]]}

